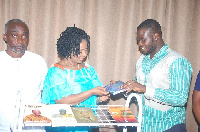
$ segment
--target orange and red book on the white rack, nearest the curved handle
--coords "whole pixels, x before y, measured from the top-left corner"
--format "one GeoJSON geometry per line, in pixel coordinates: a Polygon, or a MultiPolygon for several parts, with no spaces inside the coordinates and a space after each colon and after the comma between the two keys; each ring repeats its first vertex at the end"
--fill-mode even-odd
{"type": "Polygon", "coordinates": [[[110,106],[108,109],[115,122],[138,122],[129,107],[110,106]]]}

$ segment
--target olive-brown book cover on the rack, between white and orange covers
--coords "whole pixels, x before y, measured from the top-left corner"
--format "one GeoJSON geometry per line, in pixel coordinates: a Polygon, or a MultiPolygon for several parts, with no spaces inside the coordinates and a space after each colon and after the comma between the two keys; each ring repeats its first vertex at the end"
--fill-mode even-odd
{"type": "Polygon", "coordinates": [[[78,123],[98,123],[97,117],[91,108],[72,107],[72,111],[78,123]]]}

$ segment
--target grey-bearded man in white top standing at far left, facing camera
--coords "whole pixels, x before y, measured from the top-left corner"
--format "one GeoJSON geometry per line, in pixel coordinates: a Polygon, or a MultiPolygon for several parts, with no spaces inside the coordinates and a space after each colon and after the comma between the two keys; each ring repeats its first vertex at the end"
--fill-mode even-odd
{"type": "Polygon", "coordinates": [[[26,51],[29,28],[12,19],[5,24],[3,40],[7,49],[0,52],[0,131],[20,130],[20,107],[40,103],[47,64],[38,54],[26,51]]]}

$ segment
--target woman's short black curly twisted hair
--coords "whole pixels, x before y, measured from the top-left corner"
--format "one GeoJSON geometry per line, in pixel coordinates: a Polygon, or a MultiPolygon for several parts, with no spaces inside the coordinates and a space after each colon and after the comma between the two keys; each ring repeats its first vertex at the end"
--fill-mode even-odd
{"type": "Polygon", "coordinates": [[[90,36],[77,27],[67,27],[67,29],[60,34],[57,41],[57,51],[61,58],[71,58],[71,54],[78,56],[80,54],[80,43],[85,39],[87,41],[88,55],[90,52],[90,36]]]}

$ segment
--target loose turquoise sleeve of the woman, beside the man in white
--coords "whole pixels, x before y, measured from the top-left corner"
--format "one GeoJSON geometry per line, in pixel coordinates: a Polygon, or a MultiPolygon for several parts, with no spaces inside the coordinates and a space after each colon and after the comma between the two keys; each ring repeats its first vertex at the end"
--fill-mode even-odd
{"type": "Polygon", "coordinates": [[[43,83],[42,103],[55,104],[55,100],[71,94],[66,76],[65,71],[60,68],[51,67],[48,70],[43,83]]]}

